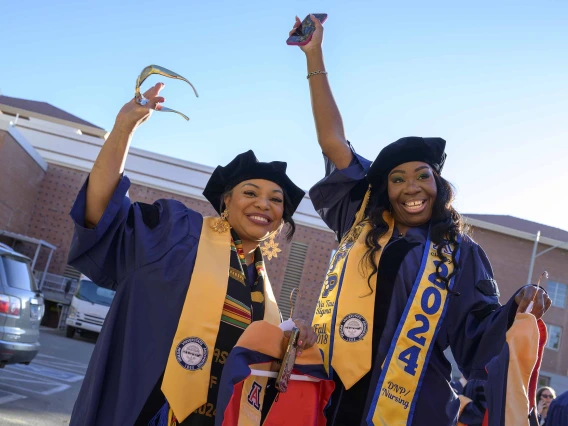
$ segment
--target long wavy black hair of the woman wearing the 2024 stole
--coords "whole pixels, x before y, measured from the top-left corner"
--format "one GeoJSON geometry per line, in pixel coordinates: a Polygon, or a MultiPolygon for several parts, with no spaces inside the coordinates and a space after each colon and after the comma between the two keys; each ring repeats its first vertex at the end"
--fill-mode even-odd
{"type": "MultiPolygon", "coordinates": [[[[437,256],[442,260],[436,267],[436,276],[439,280],[444,282],[446,290],[448,290],[450,294],[459,295],[459,293],[450,289],[449,283],[460,269],[456,262],[456,254],[459,246],[458,237],[467,234],[467,229],[464,226],[461,215],[452,206],[455,196],[454,187],[436,171],[432,172],[434,174],[438,195],[436,196],[432,208],[430,239],[437,245],[437,256]],[[441,275],[440,269],[442,263],[448,263],[449,261],[448,257],[443,252],[448,242],[455,246],[452,252],[452,262],[455,267],[449,276],[444,277],[441,275]]],[[[388,224],[383,219],[383,212],[391,209],[387,185],[388,183],[385,179],[381,186],[377,188],[371,187],[369,203],[365,209],[366,220],[372,224],[372,228],[365,237],[367,251],[361,262],[366,262],[371,269],[371,274],[367,280],[367,285],[371,289],[371,293],[373,292],[371,278],[377,274],[379,269],[379,265],[374,261],[375,255],[382,248],[379,244],[379,240],[389,229],[388,224]]]]}

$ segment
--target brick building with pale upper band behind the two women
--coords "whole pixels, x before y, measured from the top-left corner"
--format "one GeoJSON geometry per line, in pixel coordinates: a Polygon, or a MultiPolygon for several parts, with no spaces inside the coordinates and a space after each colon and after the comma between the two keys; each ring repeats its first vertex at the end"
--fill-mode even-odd
{"type": "MultiPolygon", "coordinates": [[[[106,138],[106,131],[42,102],[0,96],[0,233],[2,230],[45,240],[57,247],[49,272],[72,275],[67,254],[73,228],[69,210],[106,138]]],[[[323,169],[323,167],[322,167],[323,169]]],[[[213,167],[132,148],[126,173],[132,181],[132,201],[151,203],[174,198],[202,214],[213,209],[201,195],[213,167]]],[[[280,238],[282,252],[267,262],[274,292],[286,315],[292,288],[301,297],[296,315],[311,318],[335,236],[317,216],[306,197],[294,219],[291,243],[280,238]]],[[[487,252],[504,302],[528,281],[535,238],[540,242],[532,282],[543,270],[553,307],[545,321],[550,338],[541,381],[558,391],[568,389],[568,232],[510,216],[467,215],[473,237],[487,252]],[[558,247],[556,247],[558,246],[558,247]]],[[[2,239],[24,253],[35,248],[2,239]]],[[[40,253],[42,269],[47,252],[40,253]]]]}

